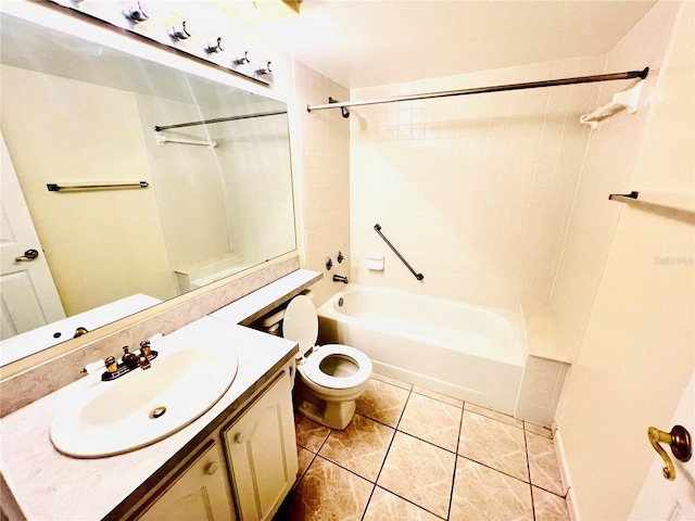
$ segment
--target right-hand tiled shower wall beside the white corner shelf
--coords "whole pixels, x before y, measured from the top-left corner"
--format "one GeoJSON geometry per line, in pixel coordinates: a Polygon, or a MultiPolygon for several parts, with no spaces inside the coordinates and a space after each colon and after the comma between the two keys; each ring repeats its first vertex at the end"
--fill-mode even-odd
{"type": "MultiPolygon", "coordinates": [[[[629,193],[649,187],[632,185],[659,69],[672,34],[679,2],[657,3],[610,51],[606,72],[649,66],[640,111],[620,114],[594,130],[577,190],[551,307],[569,355],[577,359],[596,291],[612,243],[622,205],[608,201],[609,193],[629,193]]],[[[617,81],[602,85],[602,103],[621,89],[617,81]]]]}

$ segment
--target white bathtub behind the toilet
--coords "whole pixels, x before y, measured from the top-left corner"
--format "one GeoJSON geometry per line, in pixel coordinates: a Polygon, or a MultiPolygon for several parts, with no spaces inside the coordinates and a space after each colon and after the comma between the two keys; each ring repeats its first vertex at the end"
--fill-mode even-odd
{"type": "Polygon", "coordinates": [[[318,316],[320,344],[357,347],[376,372],[514,414],[526,363],[514,313],[350,284],[318,316]]]}

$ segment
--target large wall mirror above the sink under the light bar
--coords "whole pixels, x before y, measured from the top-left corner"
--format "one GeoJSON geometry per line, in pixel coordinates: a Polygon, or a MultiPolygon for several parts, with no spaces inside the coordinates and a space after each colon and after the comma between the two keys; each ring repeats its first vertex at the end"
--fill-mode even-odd
{"type": "Polygon", "coordinates": [[[283,102],[0,24],[2,137],[65,316],[166,301],[296,250],[283,102]]]}

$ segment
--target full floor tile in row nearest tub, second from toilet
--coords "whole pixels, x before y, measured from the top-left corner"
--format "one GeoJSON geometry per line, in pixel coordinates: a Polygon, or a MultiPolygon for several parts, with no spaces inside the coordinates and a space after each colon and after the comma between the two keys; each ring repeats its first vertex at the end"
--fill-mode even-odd
{"type": "Polygon", "coordinates": [[[456,452],[462,409],[434,398],[410,394],[399,431],[456,452]]]}

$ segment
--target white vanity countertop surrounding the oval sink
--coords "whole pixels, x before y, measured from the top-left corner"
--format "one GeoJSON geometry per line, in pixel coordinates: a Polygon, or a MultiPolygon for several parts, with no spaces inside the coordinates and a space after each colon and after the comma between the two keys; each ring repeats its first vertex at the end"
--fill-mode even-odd
{"type": "MultiPolygon", "coordinates": [[[[58,453],[51,444],[49,429],[55,410],[70,397],[75,384],[0,420],[0,469],[29,521],[104,518],[222,412],[249,399],[258,385],[275,373],[271,369],[289,361],[296,351],[293,342],[211,317],[197,320],[167,338],[194,339],[201,328],[207,333],[212,328],[220,342],[237,352],[237,377],[207,412],[160,442],[99,459],[76,459],[58,453]]],[[[152,346],[155,348],[156,344],[152,346]]]]}

